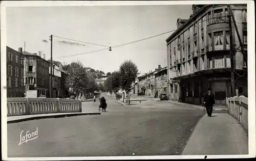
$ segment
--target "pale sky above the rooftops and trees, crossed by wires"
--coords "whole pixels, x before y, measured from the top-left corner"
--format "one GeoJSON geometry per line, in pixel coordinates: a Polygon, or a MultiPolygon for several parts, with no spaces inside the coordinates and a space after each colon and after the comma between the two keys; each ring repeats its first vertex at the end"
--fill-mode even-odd
{"type": "MultiPolygon", "coordinates": [[[[49,36],[106,46],[132,42],[177,29],[177,19],[188,19],[192,5],[7,7],[7,46],[42,51],[50,59],[49,36]]],[[[53,37],[53,60],[80,61],[84,67],[113,72],[132,60],[139,72],[167,66],[166,38],[172,33],[137,43],[80,56],[61,57],[106,48],[53,37]]]]}

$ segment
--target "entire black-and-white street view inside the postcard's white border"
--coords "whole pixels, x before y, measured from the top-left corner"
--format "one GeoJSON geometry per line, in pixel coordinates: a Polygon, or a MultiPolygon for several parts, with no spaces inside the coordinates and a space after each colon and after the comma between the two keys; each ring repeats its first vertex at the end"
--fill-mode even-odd
{"type": "Polygon", "coordinates": [[[5,158],[248,155],[247,5],[6,7],[5,158]]]}

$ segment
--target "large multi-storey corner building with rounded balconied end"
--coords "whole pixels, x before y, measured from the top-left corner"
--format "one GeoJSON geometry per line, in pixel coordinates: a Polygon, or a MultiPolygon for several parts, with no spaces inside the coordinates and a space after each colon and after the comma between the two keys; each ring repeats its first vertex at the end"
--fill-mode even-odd
{"type": "MultiPolygon", "coordinates": [[[[243,47],[247,52],[246,5],[231,5],[243,47]]],[[[177,20],[177,30],[167,39],[169,94],[173,100],[202,104],[210,87],[216,104],[231,96],[230,39],[234,44],[237,95],[247,96],[246,63],[232,22],[229,31],[227,5],[193,5],[188,20],[177,20]]],[[[247,55],[247,53],[246,53],[247,55]]]]}

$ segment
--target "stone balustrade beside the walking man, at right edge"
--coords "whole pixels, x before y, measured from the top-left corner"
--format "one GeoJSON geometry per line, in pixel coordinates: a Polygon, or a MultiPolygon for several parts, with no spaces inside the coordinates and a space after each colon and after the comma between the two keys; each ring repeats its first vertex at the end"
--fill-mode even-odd
{"type": "Polygon", "coordinates": [[[228,113],[236,118],[248,131],[248,98],[235,96],[228,98],[228,113]]]}

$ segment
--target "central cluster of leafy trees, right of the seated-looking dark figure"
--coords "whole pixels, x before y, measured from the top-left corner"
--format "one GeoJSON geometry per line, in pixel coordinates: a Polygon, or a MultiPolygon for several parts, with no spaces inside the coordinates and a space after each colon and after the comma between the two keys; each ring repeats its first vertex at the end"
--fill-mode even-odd
{"type": "MultiPolygon", "coordinates": [[[[108,75],[108,73],[107,73],[108,75]]],[[[131,60],[124,61],[118,71],[110,73],[104,82],[103,89],[107,92],[114,92],[115,94],[120,90],[130,93],[132,84],[136,81],[138,76],[138,68],[131,60]]],[[[128,96],[130,96],[128,94],[128,96]]],[[[130,100],[130,97],[126,99],[130,100]]],[[[129,101],[130,102],[130,101],[129,101]]]]}

